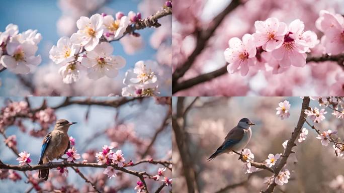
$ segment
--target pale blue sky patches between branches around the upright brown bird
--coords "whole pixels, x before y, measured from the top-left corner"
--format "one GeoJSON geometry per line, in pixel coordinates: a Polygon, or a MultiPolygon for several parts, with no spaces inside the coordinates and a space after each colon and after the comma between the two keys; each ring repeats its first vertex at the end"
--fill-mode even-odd
{"type": "MultiPolygon", "coordinates": [[[[22,101],[23,98],[13,97],[13,98],[0,98],[0,108],[4,107],[5,100],[12,101],[22,101]]],[[[47,100],[48,107],[54,107],[59,105],[65,99],[64,97],[34,97],[29,98],[32,108],[37,108],[42,105],[43,100],[47,100]]],[[[86,98],[72,98],[72,100],[77,99],[86,99],[86,98]]],[[[98,97],[93,98],[95,100],[114,100],[115,97],[106,98],[98,97]]],[[[134,102],[137,104],[137,102],[134,102]]],[[[151,139],[154,131],[161,125],[161,122],[165,116],[167,106],[155,104],[153,98],[146,98],[140,105],[126,104],[121,106],[119,120],[125,118],[124,123],[134,124],[134,130],[137,133],[136,135],[141,139],[149,140],[151,139]]],[[[65,108],[58,109],[56,111],[57,119],[67,119],[70,122],[77,122],[68,130],[68,135],[75,138],[75,148],[80,155],[88,149],[97,149],[98,151],[102,150],[103,145],[110,145],[111,141],[106,135],[101,135],[100,137],[93,140],[87,147],[85,147],[85,140],[88,140],[94,136],[96,132],[103,131],[113,125],[115,125],[115,115],[116,109],[111,107],[101,107],[101,106],[92,106],[89,114],[89,120],[85,121],[85,114],[87,112],[87,106],[72,105],[65,108]]],[[[39,127],[36,124],[32,124],[30,120],[23,122],[27,128],[27,132],[35,127],[39,127]]],[[[53,124],[54,125],[54,124],[53,124]]],[[[52,130],[51,126],[49,132],[52,130]]],[[[18,127],[11,126],[6,130],[6,135],[16,135],[17,136],[17,148],[19,152],[27,151],[31,153],[30,158],[32,160],[31,164],[37,164],[39,161],[40,150],[42,146],[43,137],[32,137],[27,133],[19,131],[18,127]]],[[[154,149],[156,154],[154,159],[164,159],[167,152],[171,149],[171,128],[166,128],[154,143],[154,149]],[[168,139],[168,140],[166,140],[168,139]]],[[[16,156],[3,142],[4,138],[0,137],[0,157],[4,163],[16,164],[16,156]]],[[[119,147],[124,153],[126,162],[132,159],[134,162],[137,160],[135,154],[135,146],[132,143],[125,143],[124,146],[119,147]]],[[[113,149],[115,150],[115,149],[113,149]]],[[[116,150],[115,150],[116,151],[116,150]]],[[[55,160],[56,161],[56,160],[55,160]]],[[[82,161],[82,158],[79,160],[82,161]]],[[[155,173],[157,171],[158,165],[149,164],[147,167],[147,172],[155,173]]],[[[132,168],[137,169],[137,168],[132,168]]],[[[141,168],[142,169],[142,168],[141,168]]],[[[53,169],[54,170],[54,169],[53,169]]],[[[84,180],[77,175],[72,169],[68,169],[69,174],[67,177],[68,182],[72,182],[76,187],[80,187],[84,184],[84,180]]],[[[88,176],[92,171],[103,171],[103,169],[93,169],[81,168],[81,171],[88,176]]],[[[55,171],[53,171],[55,172],[55,171]]],[[[23,180],[13,182],[12,180],[0,180],[0,192],[24,192],[28,188],[28,184],[24,183],[26,180],[22,172],[18,172],[23,180]],[[10,191],[11,190],[11,191],[10,191]]],[[[135,179],[132,178],[132,179],[135,179]]],[[[132,187],[136,185],[137,180],[132,181],[132,187]]],[[[112,178],[109,180],[110,184],[115,184],[116,179],[112,178]]],[[[155,184],[155,183],[153,183],[155,184]]],[[[157,185],[157,183],[156,183],[157,185]]],[[[133,189],[128,189],[124,192],[133,192],[133,189]]]]}

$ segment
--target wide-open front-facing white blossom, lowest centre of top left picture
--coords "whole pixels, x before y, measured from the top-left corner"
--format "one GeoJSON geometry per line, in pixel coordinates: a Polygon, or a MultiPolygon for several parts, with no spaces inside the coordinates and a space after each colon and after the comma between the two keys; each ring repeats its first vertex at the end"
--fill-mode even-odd
{"type": "Polygon", "coordinates": [[[112,56],[113,51],[110,43],[102,42],[82,58],[81,64],[88,67],[89,78],[97,80],[105,75],[110,78],[117,76],[118,69],[123,68],[126,61],[122,56],[112,56]]]}

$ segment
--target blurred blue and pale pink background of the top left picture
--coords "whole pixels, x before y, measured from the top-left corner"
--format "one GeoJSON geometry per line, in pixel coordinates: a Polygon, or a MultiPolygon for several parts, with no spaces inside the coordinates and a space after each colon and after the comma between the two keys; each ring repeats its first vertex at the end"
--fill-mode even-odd
{"type": "Polygon", "coordinates": [[[0,31],[5,31],[8,24],[18,25],[19,33],[28,29],[38,30],[42,41],[38,44],[37,54],[42,62],[28,75],[16,75],[9,70],[0,73],[2,96],[108,96],[121,95],[125,72],[132,69],[139,60],[155,60],[159,68],[155,69],[160,76],[160,95],[171,95],[171,16],[159,19],[159,28],[138,30],[141,35],[136,38],[127,36],[111,44],[113,55],[123,56],[127,64],[119,70],[116,78],[103,77],[97,81],[82,75],[72,84],[64,84],[58,73],[60,65],[49,59],[49,50],[56,45],[62,36],[70,37],[77,31],[76,21],[80,16],[90,17],[96,13],[115,15],[129,11],[140,12],[142,18],[156,13],[164,5],[164,0],[16,0],[2,1],[0,12],[0,31]]]}

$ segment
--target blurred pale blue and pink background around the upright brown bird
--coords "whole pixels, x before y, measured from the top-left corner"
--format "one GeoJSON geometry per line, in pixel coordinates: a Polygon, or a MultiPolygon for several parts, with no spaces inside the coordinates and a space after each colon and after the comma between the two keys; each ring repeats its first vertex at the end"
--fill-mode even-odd
{"type": "MultiPolygon", "coordinates": [[[[65,100],[66,98],[63,97],[0,98],[0,108],[2,109],[0,129],[8,138],[5,140],[4,136],[0,137],[1,160],[4,163],[18,165],[17,156],[7,146],[12,145],[19,152],[29,152],[31,164],[37,164],[43,137],[53,129],[55,121],[58,119],[67,119],[78,123],[68,130],[68,135],[75,139],[74,147],[81,156],[77,161],[81,162],[86,159],[88,163],[97,162],[95,155],[102,151],[104,145],[114,146],[113,151],[115,152],[121,149],[126,163],[130,160],[135,163],[138,160],[149,158],[167,161],[171,159],[171,125],[168,99],[166,105],[166,100],[163,98],[75,97],[68,98],[70,104],[61,107],[60,105],[64,104],[65,100]],[[16,119],[7,118],[5,120],[3,117],[5,108],[13,107],[11,104],[15,105],[17,102],[25,103],[26,101],[29,102],[31,110],[42,108],[42,112],[38,111],[31,116],[32,111],[30,111],[26,114],[30,118],[17,117],[16,119]],[[76,101],[81,103],[74,104],[76,101]],[[85,101],[91,104],[119,103],[119,105],[117,107],[89,106],[82,103],[85,101]],[[16,144],[13,143],[14,141],[16,144]]],[[[163,166],[143,163],[130,169],[154,174],[157,173],[159,167],[163,166]]],[[[34,181],[38,182],[44,192],[52,192],[53,190],[61,190],[62,192],[94,191],[89,183],[85,183],[84,179],[71,168],[68,170],[68,177],[64,177],[59,175],[56,169],[52,169],[49,180],[46,182],[38,181],[38,170],[27,171],[26,173],[33,176],[34,181]]],[[[118,172],[117,177],[109,179],[107,175],[103,174],[104,168],[80,167],[79,170],[95,182],[102,192],[134,192],[136,182],[139,180],[136,176],[121,172],[118,172]]],[[[26,183],[27,178],[23,172],[16,172],[22,177],[21,180],[14,180],[16,178],[9,175],[8,171],[0,170],[1,192],[29,192],[28,190],[32,185],[26,183]]],[[[171,172],[168,169],[166,176],[171,177],[171,172]]],[[[155,191],[162,184],[160,181],[151,179],[146,179],[146,182],[151,191],[155,191]]],[[[161,192],[168,192],[168,190],[169,187],[165,187],[161,192]]],[[[35,192],[35,189],[32,192],[35,192]]]]}

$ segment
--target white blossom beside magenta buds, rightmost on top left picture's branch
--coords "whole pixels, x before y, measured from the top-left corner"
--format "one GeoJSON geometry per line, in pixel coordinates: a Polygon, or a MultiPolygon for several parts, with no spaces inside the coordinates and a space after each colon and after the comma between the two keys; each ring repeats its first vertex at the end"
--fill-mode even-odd
{"type": "Polygon", "coordinates": [[[111,16],[104,16],[104,37],[108,40],[118,39],[123,36],[125,30],[129,25],[129,18],[124,16],[123,13],[116,14],[116,20],[111,16]]]}

